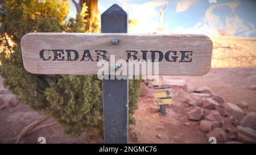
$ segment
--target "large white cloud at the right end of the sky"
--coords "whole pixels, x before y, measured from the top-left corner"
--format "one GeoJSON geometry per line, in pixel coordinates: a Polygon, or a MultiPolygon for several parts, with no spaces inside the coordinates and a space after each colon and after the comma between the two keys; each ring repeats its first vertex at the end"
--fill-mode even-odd
{"type": "Polygon", "coordinates": [[[204,19],[195,24],[191,28],[177,27],[171,32],[175,33],[199,33],[205,35],[220,35],[221,31],[228,35],[240,34],[249,37],[255,34],[255,27],[249,22],[245,22],[240,16],[234,12],[239,2],[214,3],[205,11],[204,19]],[[225,16],[225,20],[221,20],[220,16],[213,13],[214,9],[219,7],[229,7],[232,16],[225,16]]]}

